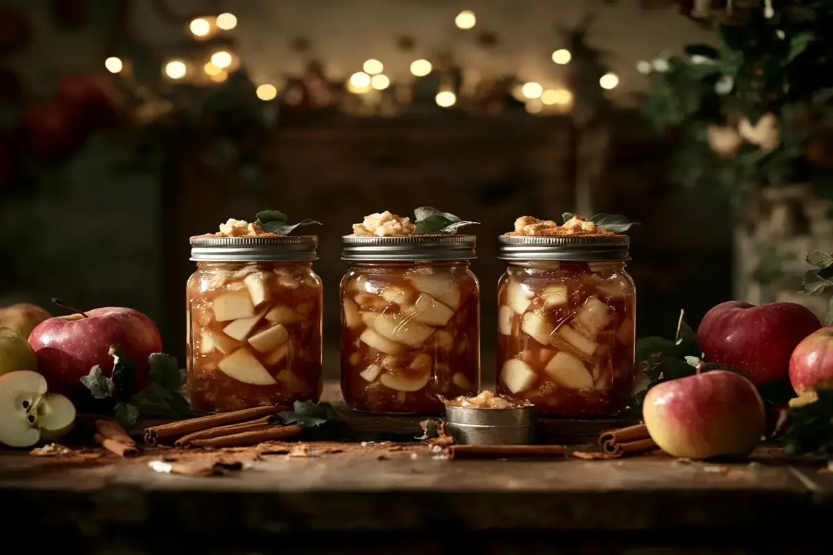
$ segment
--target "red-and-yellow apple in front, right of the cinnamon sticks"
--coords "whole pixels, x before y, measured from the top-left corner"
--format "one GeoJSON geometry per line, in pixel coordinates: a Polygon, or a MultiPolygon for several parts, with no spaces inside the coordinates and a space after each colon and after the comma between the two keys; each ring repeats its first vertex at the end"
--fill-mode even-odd
{"type": "Polygon", "coordinates": [[[764,403],[755,385],[711,370],[652,387],[642,404],[648,434],[681,458],[747,455],[764,434],[764,403]]]}

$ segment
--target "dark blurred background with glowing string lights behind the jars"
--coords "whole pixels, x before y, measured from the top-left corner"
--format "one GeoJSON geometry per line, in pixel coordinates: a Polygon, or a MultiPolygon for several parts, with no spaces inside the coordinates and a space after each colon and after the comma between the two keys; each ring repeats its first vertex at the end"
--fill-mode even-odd
{"type": "Polygon", "coordinates": [[[183,360],[188,237],[277,209],[324,224],[332,376],[340,236],[428,205],[482,222],[486,373],[496,235],[522,215],[641,222],[639,335],[733,298],[825,314],[796,291],[806,253],[833,249],[816,125],[833,72],[790,17],[764,1],[2,0],[0,306],[130,306],[183,360]]]}

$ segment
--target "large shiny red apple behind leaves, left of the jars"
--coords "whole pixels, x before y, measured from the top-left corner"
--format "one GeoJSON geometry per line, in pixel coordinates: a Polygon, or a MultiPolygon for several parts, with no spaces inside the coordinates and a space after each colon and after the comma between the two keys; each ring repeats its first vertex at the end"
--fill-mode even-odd
{"type": "Polygon", "coordinates": [[[136,361],[140,388],[147,384],[147,357],[162,352],[162,339],[152,320],[138,310],[118,307],[45,320],[29,334],[29,344],[52,393],[66,395],[79,409],[93,405],[82,376],[96,364],[105,374],[112,372],[111,345],[136,361]]]}

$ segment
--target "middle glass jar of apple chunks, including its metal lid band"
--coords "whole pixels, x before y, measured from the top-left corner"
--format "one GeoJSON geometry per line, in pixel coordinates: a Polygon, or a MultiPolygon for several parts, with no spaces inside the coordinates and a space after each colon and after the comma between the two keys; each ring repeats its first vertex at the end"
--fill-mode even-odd
{"type": "Polygon", "coordinates": [[[356,410],[435,413],[480,385],[473,235],[343,238],[342,394],[356,410]]]}

